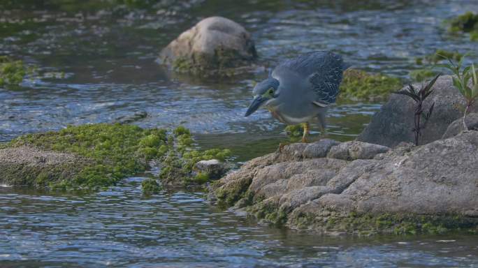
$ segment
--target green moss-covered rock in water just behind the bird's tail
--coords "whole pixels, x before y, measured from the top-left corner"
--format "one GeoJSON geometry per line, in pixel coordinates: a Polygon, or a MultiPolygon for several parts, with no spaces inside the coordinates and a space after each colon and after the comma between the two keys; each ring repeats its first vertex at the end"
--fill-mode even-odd
{"type": "Polygon", "coordinates": [[[340,84],[339,101],[383,101],[402,85],[398,77],[347,69],[340,84]]]}

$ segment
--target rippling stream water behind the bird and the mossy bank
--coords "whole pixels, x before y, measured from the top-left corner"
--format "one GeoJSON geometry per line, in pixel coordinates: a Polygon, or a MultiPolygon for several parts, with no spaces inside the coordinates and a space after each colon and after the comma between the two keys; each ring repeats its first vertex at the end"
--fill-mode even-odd
{"type": "MultiPolygon", "coordinates": [[[[265,77],[267,70],[198,80],[169,73],[155,62],[161,47],[208,15],[243,24],[268,66],[300,52],[334,50],[354,67],[406,80],[408,71],[417,68],[414,57],[437,48],[476,50],[468,36],[450,36],[443,24],[449,17],[476,9],[473,0],[241,1],[240,5],[160,1],[145,10],[101,8],[99,3],[104,2],[98,1],[69,6],[58,1],[6,2],[6,8],[0,8],[0,54],[36,64],[41,77],[59,72],[65,78],[0,88],[0,141],[147,112],[136,124],[183,124],[198,135],[214,134],[204,138],[203,146],[229,146],[231,140],[236,147],[271,140],[277,144],[284,138],[284,125],[268,112],[243,117],[254,80],[265,77]]],[[[351,140],[378,109],[378,104],[363,103],[332,107],[328,117],[332,137],[351,140]]]]}

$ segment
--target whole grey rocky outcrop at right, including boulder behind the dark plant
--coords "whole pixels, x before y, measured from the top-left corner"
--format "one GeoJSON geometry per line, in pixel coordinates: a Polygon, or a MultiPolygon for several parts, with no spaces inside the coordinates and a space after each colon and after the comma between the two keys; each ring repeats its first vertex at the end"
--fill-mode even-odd
{"type": "Polygon", "coordinates": [[[357,140],[289,144],[254,158],[212,184],[209,200],[323,234],[477,232],[478,114],[463,132],[450,76],[437,80],[433,102],[419,146],[410,143],[413,102],[392,96],[357,140]]]}

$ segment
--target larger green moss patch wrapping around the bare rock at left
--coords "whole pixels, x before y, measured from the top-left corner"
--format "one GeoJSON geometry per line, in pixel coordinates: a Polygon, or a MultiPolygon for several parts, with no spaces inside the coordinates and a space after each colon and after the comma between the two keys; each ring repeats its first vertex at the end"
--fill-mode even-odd
{"type": "Polygon", "coordinates": [[[92,124],[68,126],[58,132],[17,137],[10,147],[21,145],[59,151],[88,159],[78,174],[50,184],[53,188],[114,185],[119,179],[147,168],[147,159],[157,157],[152,145],[164,143],[166,131],[138,126],[92,124]],[[156,142],[152,144],[152,141],[156,142]]]}

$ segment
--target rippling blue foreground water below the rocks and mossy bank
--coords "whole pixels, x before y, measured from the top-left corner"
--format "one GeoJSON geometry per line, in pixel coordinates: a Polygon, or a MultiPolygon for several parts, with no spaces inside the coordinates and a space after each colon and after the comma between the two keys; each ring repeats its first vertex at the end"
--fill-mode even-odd
{"type": "Polygon", "coordinates": [[[473,236],[359,239],[279,230],[210,207],[203,193],[147,198],[141,179],[87,195],[0,188],[0,267],[478,265],[473,236]]]}

